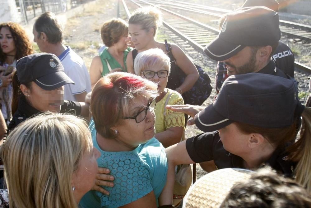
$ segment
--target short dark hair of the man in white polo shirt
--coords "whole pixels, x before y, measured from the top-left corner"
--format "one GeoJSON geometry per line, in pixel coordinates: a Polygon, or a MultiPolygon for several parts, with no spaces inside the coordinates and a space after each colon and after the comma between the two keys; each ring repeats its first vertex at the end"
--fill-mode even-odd
{"type": "Polygon", "coordinates": [[[63,28],[53,12],[44,12],[35,22],[35,30],[38,32],[38,38],[41,32],[44,32],[48,42],[56,44],[63,41],[63,28]]]}

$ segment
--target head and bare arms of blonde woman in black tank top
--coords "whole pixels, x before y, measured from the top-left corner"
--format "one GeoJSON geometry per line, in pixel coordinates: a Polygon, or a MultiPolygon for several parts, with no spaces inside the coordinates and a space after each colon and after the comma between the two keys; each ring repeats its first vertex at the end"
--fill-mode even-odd
{"type": "MultiPolygon", "coordinates": [[[[126,60],[128,72],[134,73],[133,60],[137,53],[151,48],[159,48],[165,53],[169,52],[165,43],[158,42],[155,39],[158,26],[161,24],[161,12],[158,9],[155,7],[137,9],[132,13],[132,16],[128,20],[128,24],[128,33],[135,46],[135,49],[128,53],[126,60]]],[[[172,69],[173,66],[175,67],[175,65],[178,65],[179,68],[183,70],[186,77],[183,83],[179,85],[178,74],[174,71],[169,76],[167,88],[183,94],[193,87],[199,78],[199,73],[183,50],[174,43],[171,44],[171,52],[175,58],[175,62],[171,60],[172,69]]]]}

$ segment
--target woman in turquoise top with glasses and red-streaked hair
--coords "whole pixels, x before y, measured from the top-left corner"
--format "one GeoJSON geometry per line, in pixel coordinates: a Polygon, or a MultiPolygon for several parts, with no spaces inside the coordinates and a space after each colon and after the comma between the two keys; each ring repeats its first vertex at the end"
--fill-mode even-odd
{"type": "Polygon", "coordinates": [[[155,83],[124,72],[108,74],[95,84],[89,128],[102,154],[97,162],[109,168],[115,180],[114,187],[103,187],[109,195],[89,191],[82,207],[156,208],[158,199],[162,205],[167,161],[154,138],[157,96],[155,83]]]}

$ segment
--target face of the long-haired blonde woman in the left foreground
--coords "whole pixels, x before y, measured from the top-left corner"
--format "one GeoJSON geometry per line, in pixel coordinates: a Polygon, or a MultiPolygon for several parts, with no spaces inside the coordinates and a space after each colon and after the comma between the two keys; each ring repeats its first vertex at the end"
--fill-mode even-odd
{"type": "Polygon", "coordinates": [[[72,185],[75,187],[73,194],[77,202],[95,184],[95,177],[98,172],[97,159],[99,157],[100,152],[94,147],[90,152],[85,152],[80,159],[78,169],[72,175],[72,185]]]}

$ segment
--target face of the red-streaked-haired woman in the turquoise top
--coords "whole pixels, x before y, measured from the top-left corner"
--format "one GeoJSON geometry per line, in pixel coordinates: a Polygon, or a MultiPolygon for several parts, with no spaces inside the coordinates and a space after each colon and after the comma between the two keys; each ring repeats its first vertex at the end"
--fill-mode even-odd
{"type": "MultiPolygon", "coordinates": [[[[136,116],[139,112],[143,111],[147,107],[151,100],[146,98],[135,98],[128,109],[128,114],[125,117],[136,116]]],[[[144,112],[142,112],[144,113],[144,112]]],[[[136,148],[141,143],[146,143],[149,139],[153,138],[155,131],[155,113],[147,110],[146,118],[140,123],[136,123],[135,119],[122,119],[121,123],[114,126],[114,129],[118,130],[117,140],[125,144],[136,148]]]]}

